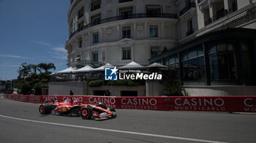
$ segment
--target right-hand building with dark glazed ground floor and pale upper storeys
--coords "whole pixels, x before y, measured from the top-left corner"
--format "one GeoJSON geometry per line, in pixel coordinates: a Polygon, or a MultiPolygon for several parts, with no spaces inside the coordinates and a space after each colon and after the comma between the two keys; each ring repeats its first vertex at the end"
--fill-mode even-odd
{"type": "Polygon", "coordinates": [[[176,4],[185,5],[178,17],[178,45],[149,61],[169,66],[189,96],[255,95],[255,1],[176,4]]]}

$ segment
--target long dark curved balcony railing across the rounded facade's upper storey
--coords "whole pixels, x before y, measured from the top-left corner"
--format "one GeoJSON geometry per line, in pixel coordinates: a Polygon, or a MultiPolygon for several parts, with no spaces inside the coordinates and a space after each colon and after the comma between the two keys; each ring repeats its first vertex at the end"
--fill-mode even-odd
{"type": "Polygon", "coordinates": [[[77,31],[75,31],[74,33],[72,33],[69,36],[69,39],[74,36],[75,34],[78,34],[78,32],[86,29],[86,28],[90,28],[92,26],[96,26],[102,23],[109,23],[112,21],[116,21],[116,20],[125,20],[125,19],[132,19],[132,18],[177,18],[177,15],[175,14],[169,14],[169,13],[155,13],[155,14],[147,14],[147,13],[135,13],[132,15],[127,15],[127,16],[116,16],[116,17],[112,17],[112,18],[105,18],[102,20],[97,20],[93,23],[89,23],[86,26],[82,26],[81,28],[79,28],[77,31]]]}

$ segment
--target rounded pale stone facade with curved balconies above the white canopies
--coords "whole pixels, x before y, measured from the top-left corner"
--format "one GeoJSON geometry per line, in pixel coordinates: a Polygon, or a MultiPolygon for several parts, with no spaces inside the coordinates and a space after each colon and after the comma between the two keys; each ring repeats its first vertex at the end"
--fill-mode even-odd
{"type": "MultiPolygon", "coordinates": [[[[68,12],[69,66],[148,59],[177,45],[175,1],[73,0],[68,12]]],[[[92,65],[94,66],[94,65],[92,65]]]]}

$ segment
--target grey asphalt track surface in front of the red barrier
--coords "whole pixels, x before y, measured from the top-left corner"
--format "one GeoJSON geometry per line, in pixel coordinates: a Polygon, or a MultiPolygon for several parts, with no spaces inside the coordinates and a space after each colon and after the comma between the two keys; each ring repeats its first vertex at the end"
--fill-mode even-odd
{"type": "Polygon", "coordinates": [[[111,120],[39,115],[0,95],[0,142],[256,142],[256,115],[117,109],[111,120]]]}

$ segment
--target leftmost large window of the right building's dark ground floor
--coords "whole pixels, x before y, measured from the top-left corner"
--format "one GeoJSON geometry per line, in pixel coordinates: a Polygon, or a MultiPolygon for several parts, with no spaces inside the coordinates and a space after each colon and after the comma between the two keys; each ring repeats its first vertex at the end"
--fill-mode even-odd
{"type": "Polygon", "coordinates": [[[164,65],[168,66],[168,74],[169,77],[173,77],[174,79],[179,79],[179,61],[178,54],[170,56],[170,58],[165,58],[164,65]]]}

